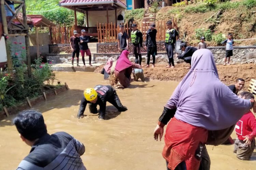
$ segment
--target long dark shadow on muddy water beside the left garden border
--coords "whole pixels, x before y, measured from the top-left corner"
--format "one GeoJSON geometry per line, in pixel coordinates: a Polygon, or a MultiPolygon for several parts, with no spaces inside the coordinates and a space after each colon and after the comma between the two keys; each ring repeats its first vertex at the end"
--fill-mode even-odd
{"type": "MultiPolygon", "coordinates": [[[[27,110],[37,110],[41,113],[43,112],[47,112],[49,110],[52,109],[60,109],[60,108],[69,108],[72,106],[77,106],[79,107],[80,105],[80,100],[83,97],[83,90],[78,90],[78,89],[69,89],[67,91],[64,91],[60,94],[58,94],[57,96],[53,96],[49,99],[47,99],[47,101],[42,101],[39,102],[36,105],[33,105],[32,108],[28,108],[27,110]],[[72,98],[72,100],[70,100],[70,98],[72,98]],[[37,109],[37,107],[40,106],[40,109],[37,109]]],[[[17,112],[19,113],[19,112],[17,112]]],[[[6,117],[3,120],[0,120],[0,127],[2,126],[11,126],[12,124],[12,120],[15,118],[15,114],[10,115],[10,117],[6,117]]]]}

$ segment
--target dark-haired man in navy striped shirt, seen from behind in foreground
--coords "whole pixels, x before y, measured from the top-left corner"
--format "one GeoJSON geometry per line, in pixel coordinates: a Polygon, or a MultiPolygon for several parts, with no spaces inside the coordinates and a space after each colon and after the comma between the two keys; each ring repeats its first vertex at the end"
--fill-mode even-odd
{"type": "Polygon", "coordinates": [[[47,133],[43,115],[37,111],[24,111],[13,120],[19,136],[28,146],[30,153],[18,165],[17,170],[86,170],[81,155],[83,143],[66,132],[47,133]]]}

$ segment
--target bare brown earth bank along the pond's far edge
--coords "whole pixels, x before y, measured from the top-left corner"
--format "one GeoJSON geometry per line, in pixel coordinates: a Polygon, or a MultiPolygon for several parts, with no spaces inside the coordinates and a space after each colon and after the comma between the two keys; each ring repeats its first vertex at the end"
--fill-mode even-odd
{"type": "MultiPolygon", "coordinates": [[[[188,64],[178,64],[175,68],[165,68],[166,65],[156,65],[155,68],[144,68],[146,79],[160,81],[181,81],[189,71],[188,64]]],[[[103,66],[96,68],[95,72],[100,72],[103,66]]],[[[245,88],[248,88],[251,79],[256,78],[256,64],[241,64],[223,66],[217,65],[219,79],[226,85],[234,84],[236,79],[245,80],[245,88]]]]}

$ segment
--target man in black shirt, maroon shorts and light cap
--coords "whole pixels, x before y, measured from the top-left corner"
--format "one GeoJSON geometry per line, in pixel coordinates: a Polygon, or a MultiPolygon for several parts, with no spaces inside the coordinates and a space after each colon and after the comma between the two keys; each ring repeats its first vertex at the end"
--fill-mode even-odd
{"type": "Polygon", "coordinates": [[[82,60],[84,63],[84,67],[85,67],[85,60],[84,60],[84,54],[86,53],[86,56],[89,56],[89,65],[91,65],[91,52],[90,49],[88,47],[88,42],[89,42],[89,37],[86,36],[86,31],[85,30],[81,30],[81,36],[80,38],[80,50],[81,50],[81,55],[82,55],[82,60]]]}

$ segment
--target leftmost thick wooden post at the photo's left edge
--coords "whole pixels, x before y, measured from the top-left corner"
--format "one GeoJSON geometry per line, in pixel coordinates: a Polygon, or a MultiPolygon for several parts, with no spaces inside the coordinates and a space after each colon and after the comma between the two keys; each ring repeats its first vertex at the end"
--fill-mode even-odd
{"type": "MultiPolygon", "coordinates": [[[[8,35],[7,20],[6,20],[5,9],[4,9],[4,0],[1,0],[1,16],[2,16],[2,24],[3,24],[3,33],[8,35]]],[[[7,55],[8,72],[11,75],[13,75],[11,51],[10,51],[10,46],[7,40],[5,40],[5,49],[6,49],[6,55],[7,55]]]]}

